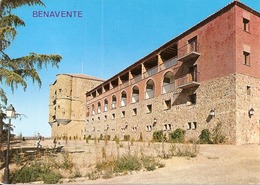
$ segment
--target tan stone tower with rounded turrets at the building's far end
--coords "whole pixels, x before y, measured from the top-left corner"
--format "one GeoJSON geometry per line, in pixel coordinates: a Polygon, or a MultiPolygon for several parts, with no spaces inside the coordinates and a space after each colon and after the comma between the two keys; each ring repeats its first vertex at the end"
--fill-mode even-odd
{"type": "Polygon", "coordinates": [[[52,137],[81,138],[85,128],[86,95],[103,80],[79,74],[58,74],[50,85],[49,124],[52,137]]]}

